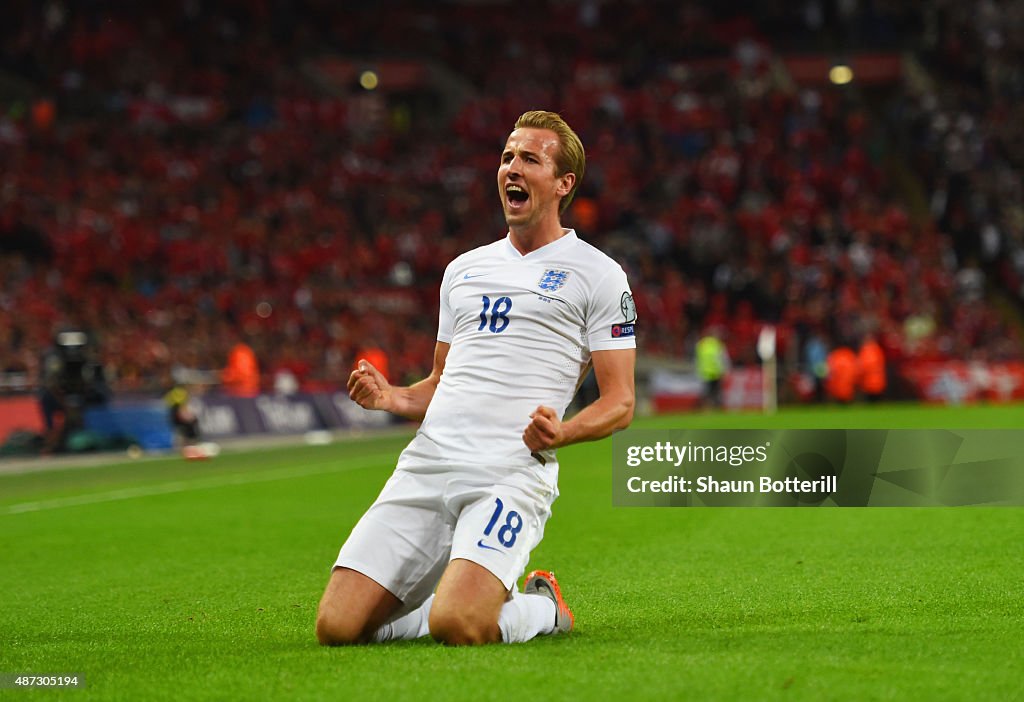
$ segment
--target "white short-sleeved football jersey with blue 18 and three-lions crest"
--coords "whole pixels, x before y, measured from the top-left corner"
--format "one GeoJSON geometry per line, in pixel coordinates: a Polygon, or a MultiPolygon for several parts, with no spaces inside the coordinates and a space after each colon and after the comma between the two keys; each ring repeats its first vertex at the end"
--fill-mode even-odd
{"type": "Polygon", "coordinates": [[[562,416],[591,352],[635,348],[635,322],[622,267],[571,229],[525,256],[506,236],[458,257],[441,281],[444,371],[398,466],[529,466],[553,483],[554,451],[522,441],[529,414],[562,416]]]}

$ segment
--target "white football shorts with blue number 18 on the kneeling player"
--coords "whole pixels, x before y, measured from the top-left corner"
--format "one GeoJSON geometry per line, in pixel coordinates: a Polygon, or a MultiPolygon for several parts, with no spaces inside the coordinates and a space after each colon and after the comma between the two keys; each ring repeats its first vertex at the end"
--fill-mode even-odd
{"type": "Polygon", "coordinates": [[[380,583],[413,611],[450,561],[466,559],[515,587],[558,496],[529,469],[406,466],[356,523],[335,568],[380,583]]]}

